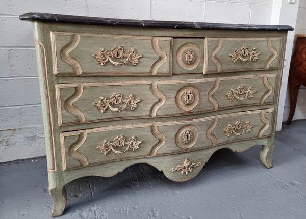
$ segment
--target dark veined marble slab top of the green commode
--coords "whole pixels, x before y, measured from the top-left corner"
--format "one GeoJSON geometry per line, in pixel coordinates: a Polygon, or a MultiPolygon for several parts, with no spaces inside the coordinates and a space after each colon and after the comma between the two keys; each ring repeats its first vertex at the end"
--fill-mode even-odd
{"type": "Polygon", "coordinates": [[[157,21],[157,20],[126,20],[99,17],[84,17],[62,14],[25,13],[19,16],[20,20],[92,24],[107,26],[138,26],[144,28],[176,28],[176,29],[227,29],[227,30],[260,30],[260,31],[292,31],[287,25],[243,25],[223,23],[200,23],[179,21],[157,21]]]}

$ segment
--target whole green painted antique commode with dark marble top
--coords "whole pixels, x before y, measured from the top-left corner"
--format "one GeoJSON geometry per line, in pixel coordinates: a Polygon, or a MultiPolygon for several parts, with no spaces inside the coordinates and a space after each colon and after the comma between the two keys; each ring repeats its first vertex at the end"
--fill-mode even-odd
{"type": "Polygon", "coordinates": [[[221,148],[272,167],[285,25],[27,13],[33,22],[52,215],[64,185],[134,163],[195,177],[221,148]]]}

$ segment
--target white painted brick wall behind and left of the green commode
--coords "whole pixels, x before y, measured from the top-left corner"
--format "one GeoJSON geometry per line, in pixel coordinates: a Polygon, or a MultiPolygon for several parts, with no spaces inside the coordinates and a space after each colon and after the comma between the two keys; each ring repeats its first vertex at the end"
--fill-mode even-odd
{"type": "Polygon", "coordinates": [[[19,21],[20,14],[269,24],[272,3],[273,0],[2,0],[0,162],[45,155],[32,24],[19,21]]]}

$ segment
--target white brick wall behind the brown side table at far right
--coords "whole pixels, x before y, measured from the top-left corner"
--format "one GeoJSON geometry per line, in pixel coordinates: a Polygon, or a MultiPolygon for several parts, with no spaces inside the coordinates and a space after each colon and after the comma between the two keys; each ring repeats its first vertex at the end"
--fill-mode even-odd
{"type": "MultiPolygon", "coordinates": [[[[297,12],[295,34],[306,34],[306,0],[300,0],[297,12]]],[[[298,92],[296,110],[292,120],[306,119],[306,87],[301,86],[298,92]]],[[[287,89],[283,121],[287,121],[290,111],[290,95],[287,89]]]]}

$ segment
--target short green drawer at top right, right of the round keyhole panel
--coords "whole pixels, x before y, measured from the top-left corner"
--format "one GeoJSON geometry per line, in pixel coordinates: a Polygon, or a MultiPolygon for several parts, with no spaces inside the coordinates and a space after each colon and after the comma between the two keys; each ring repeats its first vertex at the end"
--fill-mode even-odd
{"type": "Polygon", "coordinates": [[[205,38],[204,74],[279,68],[282,37],[205,38]]]}

